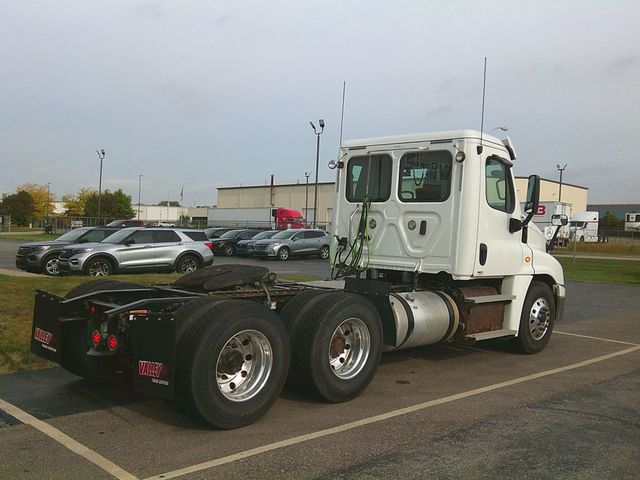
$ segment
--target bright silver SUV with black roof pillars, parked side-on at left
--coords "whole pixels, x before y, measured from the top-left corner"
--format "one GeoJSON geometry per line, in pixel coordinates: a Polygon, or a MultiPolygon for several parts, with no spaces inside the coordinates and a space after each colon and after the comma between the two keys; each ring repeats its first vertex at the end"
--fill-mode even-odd
{"type": "Polygon", "coordinates": [[[103,277],[114,272],[189,273],[213,264],[211,242],[201,230],[123,228],[99,243],[66,247],[60,272],[103,277]]]}

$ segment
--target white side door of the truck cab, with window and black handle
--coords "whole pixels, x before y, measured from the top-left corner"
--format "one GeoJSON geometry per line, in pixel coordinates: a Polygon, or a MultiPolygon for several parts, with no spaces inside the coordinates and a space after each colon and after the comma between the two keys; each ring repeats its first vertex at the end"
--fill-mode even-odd
{"type": "Polygon", "coordinates": [[[502,156],[504,152],[486,146],[484,153],[473,274],[477,277],[514,275],[522,271],[525,260],[531,265],[531,256],[525,255],[522,230],[512,228],[514,231],[510,232],[512,219],[521,220],[511,161],[502,156]]]}

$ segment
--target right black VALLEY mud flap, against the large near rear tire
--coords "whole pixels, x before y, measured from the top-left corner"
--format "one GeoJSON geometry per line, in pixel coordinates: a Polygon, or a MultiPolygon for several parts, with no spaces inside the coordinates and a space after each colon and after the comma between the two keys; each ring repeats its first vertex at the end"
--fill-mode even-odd
{"type": "MultiPolygon", "coordinates": [[[[131,319],[130,319],[131,320],[131,319]]],[[[136,392],[173,398],[175,321],[167,315],[136,315],[131,325],[133,387],[136,392]]]]}

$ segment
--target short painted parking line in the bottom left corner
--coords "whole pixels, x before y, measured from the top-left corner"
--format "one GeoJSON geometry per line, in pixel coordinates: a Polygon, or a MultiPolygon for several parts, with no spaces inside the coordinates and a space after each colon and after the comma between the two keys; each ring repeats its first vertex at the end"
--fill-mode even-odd
{"type": "Polygon", "coordinates": [[[91,450],[89,447],[82,445],[80,442],[74,440],[66,433],[62,433],[55,427],[52,427],[48,423],[43,422],[42,420],[38,420],[33,415],[28,414],[24,410],[12,405],[9,402],[6,402],[0,398],[0,410],[4,410],[9,415],[14,418],[17,418],[22,423],[29,425],[36,430],[44,433],[49,438],[52,438],[56,442],[60,443],[63,447],[68,448],[74,453],[77,453],[85,460],[93,463],[94,465],[100,467],[105,472],[114,476],[119,480],[137,480],[137,477],[131,475],[126,470],[120,468],[118,465],[113,463],[110,460],[107,460],[105,457],[100,455],[99,453],[91,450]]]}

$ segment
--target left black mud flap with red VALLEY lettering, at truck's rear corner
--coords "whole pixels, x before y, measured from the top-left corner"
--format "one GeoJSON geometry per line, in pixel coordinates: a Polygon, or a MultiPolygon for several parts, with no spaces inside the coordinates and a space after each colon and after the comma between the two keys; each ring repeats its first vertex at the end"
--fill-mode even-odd
{"type": "Polygon", "coordinates": [[[35,355],[60,363],[62,359],[62,335],[59,313],[60,302],[64,298],[42,290],[36,290],[31,327],[31,352],[35,355]]]}

